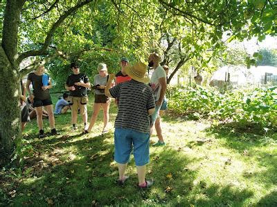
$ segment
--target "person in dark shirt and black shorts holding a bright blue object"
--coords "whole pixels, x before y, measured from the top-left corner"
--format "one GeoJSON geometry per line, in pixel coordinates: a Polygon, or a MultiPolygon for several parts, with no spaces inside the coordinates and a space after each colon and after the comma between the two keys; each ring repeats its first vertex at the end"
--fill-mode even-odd
{"type": "Polygon", "coordinates": [[[48,112],[49,124],[51,127],[51,135],[58,135],[55,129],[55,118],[53,114],[53,105],[49,89],[52,88],[51,79],[48,77],[46,83],[42,83],[44,74],[44,65],[41,63],[35,72],[28,74],[26,89],[29,93],[29,99],[33,103],[33,107],[37,113],[37,126],[39,127],[39,138],[45,137],[42,122],[42,106],[48,112]],[[30,83],[33,85],[33,92],[30,92],[30,83]]]}

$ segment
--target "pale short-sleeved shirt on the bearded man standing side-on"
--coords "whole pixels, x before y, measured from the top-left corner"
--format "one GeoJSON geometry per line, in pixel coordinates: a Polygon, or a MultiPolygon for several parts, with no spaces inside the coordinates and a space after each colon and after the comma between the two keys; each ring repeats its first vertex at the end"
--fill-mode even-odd
{"type": "Polygon", "coordinates": [[[161,84],[159,83],[160,78],[166,78],[166,71],[163,70],[163,67],[158,66],[152,73],[150,79],[150,86],[153,90],[155,101],[158,101],[161,94],[161,84]]]}

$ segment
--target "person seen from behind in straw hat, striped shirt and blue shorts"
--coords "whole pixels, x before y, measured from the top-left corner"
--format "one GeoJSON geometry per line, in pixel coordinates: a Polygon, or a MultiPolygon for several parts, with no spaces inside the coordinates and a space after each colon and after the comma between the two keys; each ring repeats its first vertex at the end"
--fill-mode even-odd
{"type": "Polygon", "coordinates": [[[128,178],[125,175],[127,163],[134,146],[134,161],[139,177],[139,188],[152,186],[153,180],[145,181],[146,164],[149,162],[150,115],[154,112],[155,103],[152,89],[145,83],[146,65],[136,63],[125,68],[131,81],[120,83],[113,88],[111,81],[114,74],[109,75],[105,88],[108,97],[119,99],[118,114],[114,124],[114,159],[118,163],[118,184],[123,185],[128,178]]]}

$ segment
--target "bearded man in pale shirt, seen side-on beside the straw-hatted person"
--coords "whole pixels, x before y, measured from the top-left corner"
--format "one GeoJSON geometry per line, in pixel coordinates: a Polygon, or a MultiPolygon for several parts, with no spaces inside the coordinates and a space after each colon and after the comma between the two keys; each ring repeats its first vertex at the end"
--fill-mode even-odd
{"type": "MultiPolygon", "coordinates": [[[[152,127],[150,133],[152,135],[153,126],[155,125],[156,119],[159,117],[159,111],[161,109],[161,103],[163,103],[163,97],[166,94],[166,72],[160,66],[161,57],[157,53],[152,53],[148,57],[148,66],[154,69],[152,77],[150,79],[150,86],[153,90],[154,98],[156,101],[156,107],[152,117],[152,127]]],[[[160,121],[156,125],[157,136],[159,141],[153,146],[165,146],[166,143],[163,141],[163,135],[161,133],[160,121]]]]}

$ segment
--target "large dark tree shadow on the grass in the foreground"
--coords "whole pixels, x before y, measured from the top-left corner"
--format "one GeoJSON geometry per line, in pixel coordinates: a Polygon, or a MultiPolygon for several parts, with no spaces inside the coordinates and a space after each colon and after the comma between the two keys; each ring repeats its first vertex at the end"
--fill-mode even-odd
{"type": "MultiPolygon", "coordinates": [[[[147,190],[136,187],[137,175],[132,158],[129,179],[117,186],[118,171],[113,162],[111,133],[105,137],[91,137],[69,142],[59,138],[43,141],[36,159],[26,161],[22,177],[10,177],[14,182],[6,195],[15,206],[91,206],[104,205],[189,205],[242,206],[253,193],[229,186],[206,186],[205,181],[195,184],[198,170],[189,165],[195,159],[170,147],[152,148],[146,177],[154,178],[154,186],[147,190]],[[51,148],[49,148],[51,146],[51,148]],[[59,153],[61,149],[75,150],[59,153]],[[47,151],[51,151],[46,154],[47,151]],[[71,157],[73,156],[73,157],[71,157]],[[11,197],[8,192],[16,190],[11,197]]],[[[7,201],[7,200],[5,200],[7,201]]],[[[7,203],[8,204],[8,203],[7,203]]]]}

